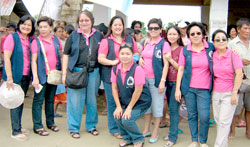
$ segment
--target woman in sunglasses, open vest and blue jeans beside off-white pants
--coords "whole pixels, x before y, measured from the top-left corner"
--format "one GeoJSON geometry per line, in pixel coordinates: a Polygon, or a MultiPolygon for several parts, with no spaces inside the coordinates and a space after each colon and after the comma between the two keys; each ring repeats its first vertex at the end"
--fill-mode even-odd
{"type": "Polygon", "coordinates": [[[192,144],[189,147],[199,146],[198,140],[200,140],[200,147],[207,147],[214,46],[204,40],[206,32],[201,23],[189,24],[187,35],[191,43],[180,53],[175,98],[178,102],[181,101],[182,96],[185,99],[192,135],[192,144]]]}

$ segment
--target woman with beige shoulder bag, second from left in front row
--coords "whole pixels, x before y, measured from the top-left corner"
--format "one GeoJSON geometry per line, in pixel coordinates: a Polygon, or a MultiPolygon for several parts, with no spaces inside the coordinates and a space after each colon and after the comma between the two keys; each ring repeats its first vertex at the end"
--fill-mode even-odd
{"type": "Polygon", "coordinates": [[[33,130],[36,134],[48,136],[49,132],[44,129],[42,124],[42,105],[45,100],[46,125],[48,129],[58,132],[59,128],[54,122],[54,96],[57,86],[47,83],[48,71],[42,46],[44,46],[50,71],[55,69],[61,70],[59,50],[62,50],[62,46],[59,39],[51,34],[53,29],[53,20],[51,18],[46,16],[41,17],[37,21],[37,26],[39,27],[40,35],[31,44],[32,85],[35,89],[39,89],[42,86],[42,89],[39,92],[36,92],[36,90],[34,92],[35,95],[32,104],[33,130]]]}

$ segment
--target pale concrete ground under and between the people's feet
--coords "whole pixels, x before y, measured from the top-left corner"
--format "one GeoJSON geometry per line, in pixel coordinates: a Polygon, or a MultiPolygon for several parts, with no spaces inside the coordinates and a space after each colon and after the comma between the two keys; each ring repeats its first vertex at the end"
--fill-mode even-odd
{"type": "MultiPolygon", "coordinates": [[[[100,101],[100,100],[98,100],[100,101]]],[[[31,133],[28,135],[27,141],[16,141],[10,138],[11,123],[9,110],[0,106],[0,147],[118,147],[120,140],[111,136],[107,128],[107,116],[99,113],[99,123],[97,126],[100,135],[93,136],[85,130],[85,115],[83,115],[82,126],[80,130],[80,139],[73,139],[67,132],[67,119],[65,109],[60,109],[63,114],[61,118],[55,118],[56,124],[60,127],[60,131],[54,133],[50,130],[49,136],[39,136],[32,132],[32,114],[31,114],[32,96],[25,99],[25,107],[22,118],[23,128],[29,129],[31,133]]],[[[45,117],[43,111],[43,122],[45,124],[45,117]]],[[[143,129],[143,118],[138,120],[138,125],[143,129]]],[[[184,131],[179,135],[178,142],[175,147],[187,147],[191,143],[191,135],[187,121],[180,123],[180,128],[184,131]]],[[[145,147],[163,147],[166,141],[163,137],[168,133],[169,128],[160,128],[160,139],[157,143],[150,144],[149,138],[145,139],[145,147]]],[[[210,127],[208,136],[208,145],[214,145],[216,137],[216,125],[210,127]]],[[[250,147],[250,140],[245,137],[245,128],[236,129],[236,137],[229,143],[229,147],[250,147]]]]}

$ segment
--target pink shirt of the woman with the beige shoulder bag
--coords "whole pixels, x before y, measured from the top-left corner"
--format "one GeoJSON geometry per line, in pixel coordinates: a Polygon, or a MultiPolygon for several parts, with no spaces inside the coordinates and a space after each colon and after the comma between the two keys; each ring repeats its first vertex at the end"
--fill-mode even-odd
{"type": "MultiPolygon", "coordinates": [[[[56,69],[56,62],[57,62],[58,59],[56,57],[56,51],[55,51],[55,47],[54,47],[54,41],[53,41],[54,35],[51,34],[50,41],[44,40],[41,35],[39,35],[38,38],[43,43],[50,70],[55,70],[56,69]]],[[[61,45],[60,41],[59,41],[59,49],[62,50],[62,45],[61,45]]],[[[37,46],[36,39],[34,39],[32,41],[32,43],[31,43],[31,52],[32,52],[32,54],[37,54],[38,53],[38,46],[37,46]]],[[[46,65],[45,65],[45,69],[46,69],[46,74],[47,74],[46,65]]]]}

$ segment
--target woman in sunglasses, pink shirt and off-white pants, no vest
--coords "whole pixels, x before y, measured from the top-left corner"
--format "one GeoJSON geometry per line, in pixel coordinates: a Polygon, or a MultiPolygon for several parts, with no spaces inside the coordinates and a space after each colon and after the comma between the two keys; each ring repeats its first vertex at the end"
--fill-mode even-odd
{"type": "Polygon", "coordinates": [[[239,55],[227,48],[228,36],[223,30],[212,35],[216,48],[213,53],[213,113],[217,123],[215,147],[227,147],[230,125],[238,103],[243,64],[239,55]]]}

